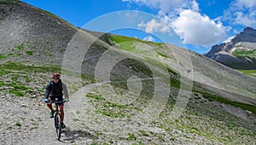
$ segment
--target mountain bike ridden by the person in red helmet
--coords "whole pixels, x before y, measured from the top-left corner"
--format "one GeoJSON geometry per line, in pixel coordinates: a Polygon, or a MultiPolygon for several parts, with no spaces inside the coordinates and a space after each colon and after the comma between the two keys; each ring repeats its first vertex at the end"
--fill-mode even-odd
{"type": "Polygon", "coordinates": [[[61,139],[61,110],[60,110],[60,106],[61,103],[65,103],[66,101],[52,101],[50,103],[55,103],[55,113],[54,113],[54,119],[55,119],[55,129],[56,129],[56,136],[57,139],[60,140],[61,139]]]}

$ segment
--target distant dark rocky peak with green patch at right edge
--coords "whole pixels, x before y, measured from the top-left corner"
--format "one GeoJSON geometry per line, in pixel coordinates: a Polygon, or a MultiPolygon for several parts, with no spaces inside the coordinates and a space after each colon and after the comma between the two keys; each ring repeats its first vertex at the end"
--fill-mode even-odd
{"type": "Polygon", "coordinates": [[[256,69],[256,30],[246,27],[227,44],[212,46],[207,57],[236,69],[256,69]]]}

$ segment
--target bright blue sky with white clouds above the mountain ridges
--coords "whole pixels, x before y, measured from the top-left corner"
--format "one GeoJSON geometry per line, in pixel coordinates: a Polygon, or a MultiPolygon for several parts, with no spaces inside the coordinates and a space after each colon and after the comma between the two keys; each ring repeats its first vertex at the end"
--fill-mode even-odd
{"type": "Polygon", "coordinates": [[[256,28],[256,0],[21,0],[74,26],[154,42],[200,54],[256,28]]]}

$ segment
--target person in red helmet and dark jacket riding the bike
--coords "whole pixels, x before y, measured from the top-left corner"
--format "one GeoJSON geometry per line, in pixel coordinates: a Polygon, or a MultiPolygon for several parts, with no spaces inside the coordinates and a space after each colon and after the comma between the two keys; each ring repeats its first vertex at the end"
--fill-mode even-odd
{"type": "MultiPolygon", "coordinates": [[[[45,100],[46,106],[49,107],[50,113],[49,117],[54,117],[54,109],[52,107],[52,104],[49,103],[55,98],[58,99],[58,101],[63,101],[63,92],[65,96],[65,101],[68,102],[68,92],[67,92],[67,86],[66,84],[63,84],[61,82],[61,75],[59,73],[53,73],[52,80],[49,81],[49,84],[46,86],[46,92],[45,92],[45,100]]],[[[66,125],[63,123],[64,120],[64,103],[61,103],[60,111],[61,111],[61,128],[65,128],[66,125]]]]}

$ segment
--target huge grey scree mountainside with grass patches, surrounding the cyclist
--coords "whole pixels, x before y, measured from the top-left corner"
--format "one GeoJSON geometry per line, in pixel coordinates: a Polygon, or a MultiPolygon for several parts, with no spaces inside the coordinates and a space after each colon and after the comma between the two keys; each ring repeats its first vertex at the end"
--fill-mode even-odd
{"type": "Polygon", "coordinates": [[[0,1],[1,144],[253,144],[256,79],[171,44],[79,29],[0,1]],[[51,73],[70,102],[55,140],[51,73]]]}

